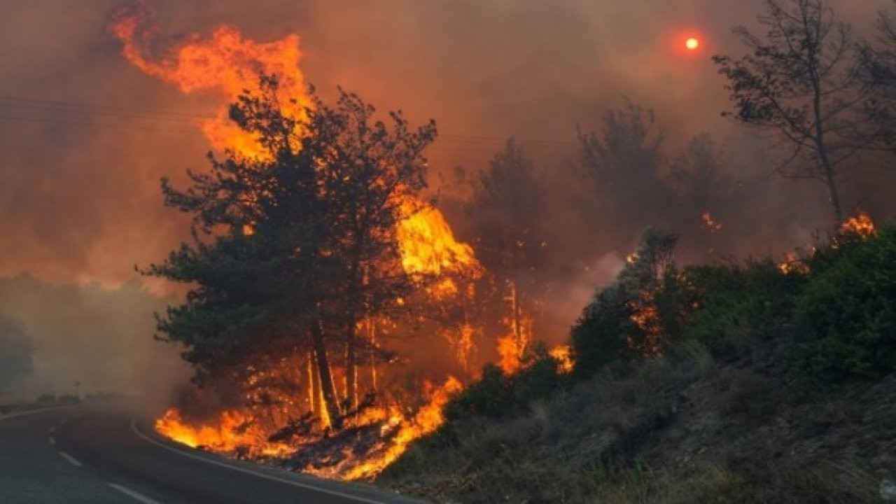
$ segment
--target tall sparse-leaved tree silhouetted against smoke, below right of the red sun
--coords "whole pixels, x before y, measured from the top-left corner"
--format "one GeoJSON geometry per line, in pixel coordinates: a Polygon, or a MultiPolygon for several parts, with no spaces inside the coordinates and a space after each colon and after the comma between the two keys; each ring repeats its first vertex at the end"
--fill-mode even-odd
{"type": "Polygon", "coordinates": [[[764,37],[744,27],[735,34],[749,49],[738,59],[713,56],[728,79],[738,122],[771,131],[791,152],[779,169],[792,178],[823,181],[832,217],[843,221],[841,167],[862,147],[857,109],[865,102],[858,83],[855,42],[826,0],[766,0],[758,19],[764,37]]]}

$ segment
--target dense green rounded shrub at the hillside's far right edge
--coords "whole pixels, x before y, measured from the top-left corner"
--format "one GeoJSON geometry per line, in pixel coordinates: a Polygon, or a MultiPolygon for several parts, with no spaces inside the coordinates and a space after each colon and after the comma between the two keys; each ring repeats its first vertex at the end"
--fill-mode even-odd
{"type": "Polygon", "coordinates": [[[896,227],[835,250],[797,300],[793,370],[827,384],[881,378],[896,369],[896,227]]]}

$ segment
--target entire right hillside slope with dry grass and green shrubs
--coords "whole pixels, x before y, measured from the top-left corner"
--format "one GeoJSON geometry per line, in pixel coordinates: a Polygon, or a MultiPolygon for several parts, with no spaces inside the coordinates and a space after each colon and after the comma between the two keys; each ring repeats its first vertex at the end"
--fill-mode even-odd
{"type": "Polygon", "coordinates": [[[891,226],[794,265],[653,270],[637,286],[653,308],[673,292],[694,308],[667,310],[680,330],[663,316],[662,350],[647,356],[625,353],[635,333],[622,352],[606,339],[638,329],[606,326],[624,272],[573,328],[576,354],[612,358],[587,372],[578,361],[547,394],[521,394],[513,377],[470,387],[378,483],[442,502],[883,501],[896,481],[894,258],[891,226]]]}

